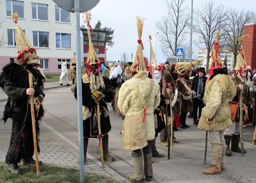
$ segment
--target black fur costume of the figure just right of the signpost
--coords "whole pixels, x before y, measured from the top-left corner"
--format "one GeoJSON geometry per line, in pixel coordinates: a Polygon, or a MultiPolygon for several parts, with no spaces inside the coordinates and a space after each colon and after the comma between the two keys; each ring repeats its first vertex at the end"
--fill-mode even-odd
{"type": "MultiPolygon", "coordinates": [[[[113,100],[114,88],[109,78],[103,76],[103,81],[105,84],[105,89],[100,88],[100,90],[102,90],[102,93],[103,95],[105,95],[105,97],[103,97],[102,100],[100,101],[100,113],[101,113],[100,127],[101,127],[102,135],[105,135],[111,130],[111,124],[110,124],[109,115],[106,118],[104,117],[105,111],[103,110],[103,107],[107,109],[107,102],[111,102],[111,100],[113,100]]],[[[74,97],[77,99],[76,93],[77,93],[77,88],[75,87],[74,97]]],[[[91,111],[91,117],[87,118],[86,120],[83,120],[84,137],[96,138],[98,136],[98,132],[95,132],[95,129],[97,129],[98,126],[94,126],[93,128],[93,119],[95,118],[94,114],[97,115],[97,104],[95,102],[95,99],[92,98],[90,83],[83,83],[83,80],[82,80],[82,97],[83,97],[82,105],[87,106],[91,111]]],[[[107,109],[107,112],[108,112],[108,109],[107,109]]]]}

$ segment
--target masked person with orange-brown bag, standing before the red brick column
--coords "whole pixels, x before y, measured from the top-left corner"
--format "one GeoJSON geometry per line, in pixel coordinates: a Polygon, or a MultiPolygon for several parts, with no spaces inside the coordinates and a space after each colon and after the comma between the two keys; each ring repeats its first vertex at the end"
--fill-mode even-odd
{"type": "MultiPolygon", "coordinates": [[[[234,68],[234,75],[232,75],[232,81],[234,81],[236,85],[236,96],[232,100],[232,104],[237,104],[240,102],[240,91],[242,90],[243,95],[243,120],[247,120],[248,110],[247,108],[253,108],[252,99],[251,99],[251,91],[249,86],[246,84],[246,79],[248,76],[248,70],[246,67],[245,56],[243,52],[242,42],[244,36],[241,36],[238,41],[240,42],[240,49],[238,52],[238,59],[236,61],[236,66],[234,68]],[[246,111],[246,112],[245,112],[246,111]]],[[[226,156],[231,156],[231,151],[240,152],[241,148],[239,147],[240,141],[240,112],[239,105],[237,105],[237,110],[235,111],[236,117],[232,122],[232,126],[227,128],[224,132],[224,138],[226,140],[227,149],[225,152],[226,156]],[[231,142],[231,148],[229,149],[229,145],[231,142]]],[[[244,150],[244,153],[246,151],[244,150]]]]}

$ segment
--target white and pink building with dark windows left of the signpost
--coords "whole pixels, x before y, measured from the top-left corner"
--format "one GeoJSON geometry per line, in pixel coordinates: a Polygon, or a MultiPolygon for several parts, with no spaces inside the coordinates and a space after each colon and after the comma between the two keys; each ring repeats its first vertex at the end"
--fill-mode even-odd
{"type": "Polygon", "coordinates": [[[0,48],[0,72],[17,56],[15,23],[11,13],[18,13],[18,25],[36,48],[45,73],[60,73],[62,61],[73,61],[75,52],[74,13],[65,11],[53,0],[2,0],[0,17],[4,20],[0,35],[6,45],[0,48]]]}

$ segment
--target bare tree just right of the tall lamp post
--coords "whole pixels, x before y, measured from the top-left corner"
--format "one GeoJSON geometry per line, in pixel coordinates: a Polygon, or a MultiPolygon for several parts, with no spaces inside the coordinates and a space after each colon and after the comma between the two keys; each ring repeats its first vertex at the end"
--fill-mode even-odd
{"type": "MultiPolygon", "coordinates": [[[[211,57],[210,53],[215,42],[215,32],[216,30],[220,30],[221,25],[225,21],[224,8],[224,5],[216,5],[213,0],[209,0],[203,6],[197,7],[195,11],[193,31],[196,32],[197,37],[194,39],[194,42],[201,49],[207,49],[207,73],[211,57]]],[[[220,38],[222,35],[223,31],[220,30],[220,38]]]]}

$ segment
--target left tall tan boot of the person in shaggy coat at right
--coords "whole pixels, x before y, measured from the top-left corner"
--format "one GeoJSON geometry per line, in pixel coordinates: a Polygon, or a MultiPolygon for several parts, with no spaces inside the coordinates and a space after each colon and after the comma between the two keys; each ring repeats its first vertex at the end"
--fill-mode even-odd
{"type": "Polygon", "coordinates": [[[208,169],[203,170],[203,174],[221,174],[222,170],[221,159],[222,159],[222,142],[214,142],[212,144],[212,164],[208,169]]]}

